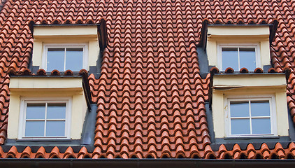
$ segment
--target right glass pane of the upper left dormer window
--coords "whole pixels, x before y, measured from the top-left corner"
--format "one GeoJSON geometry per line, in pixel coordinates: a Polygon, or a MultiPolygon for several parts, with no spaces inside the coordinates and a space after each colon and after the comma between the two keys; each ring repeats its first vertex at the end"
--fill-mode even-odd
{"type": "Polygon", "coordinates": [[[83,48],[66,48],[66,70],[80,71],[83,62],[83,48]]]}

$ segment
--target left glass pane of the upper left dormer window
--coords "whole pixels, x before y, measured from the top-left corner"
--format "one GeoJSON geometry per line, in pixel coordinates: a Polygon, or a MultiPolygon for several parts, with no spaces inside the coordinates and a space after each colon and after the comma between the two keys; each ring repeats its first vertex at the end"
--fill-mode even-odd
{"type": "Polygon", "coordinates": [[[64,71],[64,48],[48,48],[47,71],[64,71]]]}

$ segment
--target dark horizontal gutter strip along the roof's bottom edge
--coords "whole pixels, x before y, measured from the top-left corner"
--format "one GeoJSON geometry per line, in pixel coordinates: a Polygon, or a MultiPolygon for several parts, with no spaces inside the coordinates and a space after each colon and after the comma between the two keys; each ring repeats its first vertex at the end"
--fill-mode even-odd
{"type": "Polygon", "coordinates": [[[108,168],[268,168],[294,167],[295,160],[202,160],[202,159],[1,159],[1,167],[108,167],[108,168]]]}

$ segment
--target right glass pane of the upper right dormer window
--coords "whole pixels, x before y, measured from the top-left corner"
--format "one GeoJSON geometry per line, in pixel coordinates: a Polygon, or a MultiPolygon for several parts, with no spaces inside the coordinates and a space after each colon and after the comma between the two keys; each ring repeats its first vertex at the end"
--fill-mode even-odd
{"type": "Polygon", "coordinates": [[[243,67],[249,71],[256,69],[255,48],[240,48],[240,68],[243,67]]]}

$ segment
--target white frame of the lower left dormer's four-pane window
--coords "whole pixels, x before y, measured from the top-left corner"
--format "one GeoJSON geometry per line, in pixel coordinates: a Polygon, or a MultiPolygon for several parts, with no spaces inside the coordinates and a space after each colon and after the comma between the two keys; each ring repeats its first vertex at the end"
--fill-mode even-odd
{"type": "Polygon", "coordinates": [[[20,100],[20,124],[18,139],[71,139],[71,97],[21,97],[20,100]],[[65,136],[64,137],[25,137],[27,103],[66,103],[65,136]]]}

